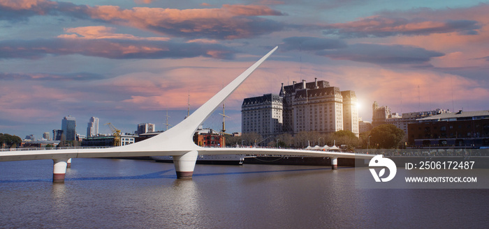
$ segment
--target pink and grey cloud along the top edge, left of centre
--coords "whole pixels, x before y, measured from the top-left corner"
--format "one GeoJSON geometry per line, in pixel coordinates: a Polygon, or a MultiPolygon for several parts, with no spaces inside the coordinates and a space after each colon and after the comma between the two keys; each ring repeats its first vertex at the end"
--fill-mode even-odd
{"type": "Polygon", "coordinates": [[[2,0],[0,6],[4,6],[2,10],[8,11],[3,19],[22,20],[45,14],[84,19],[88,17],[184,38],[250,38],[284,28],[282,23],[260,17],[284,13],[268,6],[257,5],[224,5],[221,8],[184,10],[149,7],[123,9],[119,6],[86,6],[48,0],[24,0],[20,3],[2,0]]]}

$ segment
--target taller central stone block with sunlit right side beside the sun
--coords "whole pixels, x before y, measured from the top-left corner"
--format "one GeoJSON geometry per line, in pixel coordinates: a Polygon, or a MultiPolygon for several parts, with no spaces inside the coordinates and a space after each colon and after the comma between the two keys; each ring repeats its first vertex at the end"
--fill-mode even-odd
{"type": "Polygon", "coordinates": [[[284,132],[331,133],[347,129],[358,136],[357,100],[352,90],[342,92],[328,81],[314,79],[282,84],[280,95],[284,97],[284,132]]]}

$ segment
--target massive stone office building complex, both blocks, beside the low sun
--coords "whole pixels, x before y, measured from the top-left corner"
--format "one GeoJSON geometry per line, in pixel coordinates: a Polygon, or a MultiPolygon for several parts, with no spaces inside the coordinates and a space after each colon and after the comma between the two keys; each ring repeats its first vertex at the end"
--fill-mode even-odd
{"type": "Polygon", "coordinates": [[[301,83],[280,89],[279,95],[249,97],[242,104],[242,133],[266,137],[281,133],[333,133],[342,129],[358,136],[357,99],[353,90],[341,91],[328,81],[301,83]]]}

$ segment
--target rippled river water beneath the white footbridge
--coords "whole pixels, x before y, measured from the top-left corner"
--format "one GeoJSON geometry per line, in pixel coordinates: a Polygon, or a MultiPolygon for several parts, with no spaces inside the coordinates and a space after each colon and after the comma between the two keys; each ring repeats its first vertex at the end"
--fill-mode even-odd
{"type": "Polygon", "coordinates": [[[488,189],[357,189],[355,169],[0,162],[0,228],[489,228],[488,189]]]}

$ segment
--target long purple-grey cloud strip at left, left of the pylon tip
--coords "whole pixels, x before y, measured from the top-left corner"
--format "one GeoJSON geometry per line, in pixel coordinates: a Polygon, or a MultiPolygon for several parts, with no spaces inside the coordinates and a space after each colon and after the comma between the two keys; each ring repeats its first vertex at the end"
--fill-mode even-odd
{"type": "Polygon", "coordinates": [[[224,45],[161,40],[37,39],[0,41],[1,58],[37,59],[46,55],[81,54],[104,58],[210,58],[232,59],[235,51],[224,45]]]}

